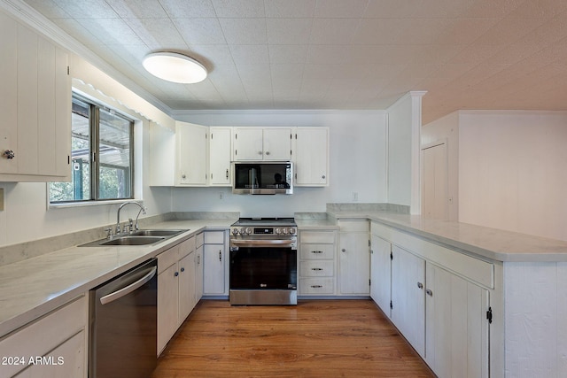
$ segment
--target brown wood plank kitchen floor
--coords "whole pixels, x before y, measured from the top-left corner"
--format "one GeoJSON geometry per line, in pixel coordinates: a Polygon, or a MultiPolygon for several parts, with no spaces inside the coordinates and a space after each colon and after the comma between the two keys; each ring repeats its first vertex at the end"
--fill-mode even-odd
{"type": "Polygon", "coordinates": [[[432,377],[370,300],[230,306],[202,300],[151,378],[432,377]]]}

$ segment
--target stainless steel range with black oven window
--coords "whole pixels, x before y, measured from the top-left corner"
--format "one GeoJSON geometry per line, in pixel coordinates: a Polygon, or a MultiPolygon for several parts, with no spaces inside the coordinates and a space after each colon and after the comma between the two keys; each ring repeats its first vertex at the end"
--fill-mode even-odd
{"type": "Polygon", "coordinates": [[[241,218],[230,227],[230,304],[297,305],[293,218],[241,218]]]}

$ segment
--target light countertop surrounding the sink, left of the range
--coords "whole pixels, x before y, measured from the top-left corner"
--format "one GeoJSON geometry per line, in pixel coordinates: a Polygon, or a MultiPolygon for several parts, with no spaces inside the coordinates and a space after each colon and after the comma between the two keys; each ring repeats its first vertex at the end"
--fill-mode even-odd
{"type": "Polygon", "coordinates": [[[235,220],[168,220],[148,228],[188,229],[162,243],[70,247],[0,266],[0,337],[203,230],[235,220]]]}

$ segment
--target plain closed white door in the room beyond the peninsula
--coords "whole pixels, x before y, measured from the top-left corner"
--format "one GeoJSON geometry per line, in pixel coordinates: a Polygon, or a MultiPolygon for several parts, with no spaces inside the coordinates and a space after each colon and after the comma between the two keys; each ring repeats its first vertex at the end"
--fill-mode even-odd
{"type": "Polygon", "coordinates": [[[423,149],[422,214],[436,220],[448,219],[447,144],[423,149]]]}

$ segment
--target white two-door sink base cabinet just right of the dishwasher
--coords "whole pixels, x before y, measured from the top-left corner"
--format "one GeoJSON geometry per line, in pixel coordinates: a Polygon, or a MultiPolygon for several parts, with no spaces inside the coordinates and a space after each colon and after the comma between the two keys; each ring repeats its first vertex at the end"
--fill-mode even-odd
{"type": "Polygon", "coordinates": [[[195,307],[195,237],[158,255],[158,354],[195,307]]]}

